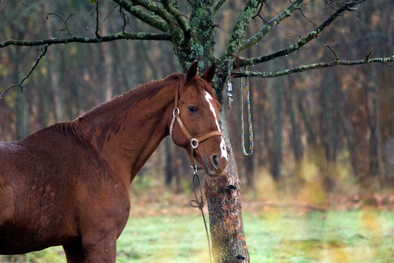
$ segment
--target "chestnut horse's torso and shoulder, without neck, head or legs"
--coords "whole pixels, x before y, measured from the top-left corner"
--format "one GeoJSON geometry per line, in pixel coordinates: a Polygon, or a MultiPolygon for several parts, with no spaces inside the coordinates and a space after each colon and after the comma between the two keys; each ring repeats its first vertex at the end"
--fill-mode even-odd
{"type": "Polygon", "coordinates": [[[109,169],[93,147],[53,126],[0,143],[0,163],[14,164],[0,171],[0,254],[78,244],[100,228],[116,239],[127,222],[130,173],[109,169]]]}

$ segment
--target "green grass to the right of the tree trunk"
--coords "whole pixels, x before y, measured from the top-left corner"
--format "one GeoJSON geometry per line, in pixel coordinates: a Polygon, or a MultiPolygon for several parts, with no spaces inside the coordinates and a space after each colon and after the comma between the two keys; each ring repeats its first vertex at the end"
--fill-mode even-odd
{"type": "Polygon", "coordinates": [[[245,232],[252,262],[389,263],[394,258],[393,216],[378,211],[274,212],[246,217],[245,232]]]}

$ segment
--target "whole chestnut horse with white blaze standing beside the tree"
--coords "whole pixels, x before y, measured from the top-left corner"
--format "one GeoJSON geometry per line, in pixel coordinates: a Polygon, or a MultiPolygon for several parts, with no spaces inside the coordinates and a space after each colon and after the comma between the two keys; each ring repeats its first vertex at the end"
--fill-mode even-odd
{"type": "Polygon", "coordinates": [[[186,75],[140,85],[72,122],[0,142],[0,254],[61,245],[67,262],[115,262],[130,183],[170,131],[189,154],[199,143],[197,161],[220,175],[228,156],[214,73],[212,65],[197,76],[195,62],[186,75]]]}

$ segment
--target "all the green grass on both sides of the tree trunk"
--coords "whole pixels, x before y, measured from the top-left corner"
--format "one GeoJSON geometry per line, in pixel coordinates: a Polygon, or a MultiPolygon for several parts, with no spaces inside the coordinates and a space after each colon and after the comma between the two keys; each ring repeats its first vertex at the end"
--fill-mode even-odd
{"type": "MultiPolygon", "coordinates": [[[[117,262],[209,262],[198,211],[131,217],[118,239],[117,262]]],[[[148,213],[149,214],[149,213],[148,213]]],[[[394,258],[394,213],[372,209],[303,212],[266,207],[243,214],[253,263],[389,263],[394,258]]],[[[65,262],[61,247],[0,262],[65,262]]]]}

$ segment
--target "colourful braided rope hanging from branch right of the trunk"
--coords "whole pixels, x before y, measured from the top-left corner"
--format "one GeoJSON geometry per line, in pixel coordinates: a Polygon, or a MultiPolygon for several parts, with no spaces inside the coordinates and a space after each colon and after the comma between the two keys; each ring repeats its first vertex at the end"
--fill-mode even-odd
{"type": "MultiPolygon", "coordinates": [[[[229,102],[229,109],[231,109],[232,102],[233,102],[233,87],[231,82],[231,73],[234,67],[241,72],[239,68],[239,60],[240,57],[236,57],[236,60],[231,59],[227,66],[227,80],[226,80],[226,88],[227,88],[227,98],[229,102]]],[[[247,66],[245,66],[245,72],[248,71],[247,66]]],[[[246,90],[246,104],[247,104],[247,112],[248,112],[248,128],[249,128],[249,151],[246,152],[245,149],[245,139],[244,139],[244,123],[243,123],[243,85],[242,85],[242,78],[239,80],[239,92],[240,92],[240,99],[241,99],[241,144],[242,144],[242,151],[243,154],[246,156],[251,156],[253,153],[253,128],[252,128],[252,115],[250,111],[250,94],[249,94],[249,80],[248,77],[245,77],[245,90],[246,90]]]]}

